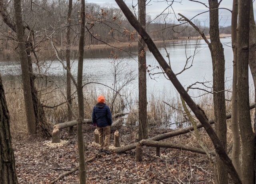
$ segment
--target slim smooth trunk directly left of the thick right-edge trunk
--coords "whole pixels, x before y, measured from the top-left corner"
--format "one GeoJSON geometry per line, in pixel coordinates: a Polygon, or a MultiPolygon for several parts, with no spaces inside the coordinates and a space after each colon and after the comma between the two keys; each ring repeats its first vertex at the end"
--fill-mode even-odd
{"type": "Polygon", "coordinates": [[[232,148],[232,163],[236,168],[239,176],[242,176],[242,170],[240,165],[240,135],[238,126],[238,109],[237,109],[237,16],[238,16],[238,0],[233,0],[232,8],[232,49],[233,49],[233,85],[232,85],[232,118],[231,128],[233,135],[233,148],[232,148]]]}

